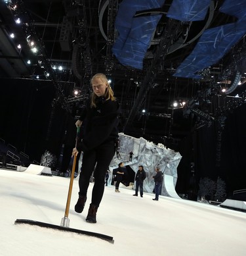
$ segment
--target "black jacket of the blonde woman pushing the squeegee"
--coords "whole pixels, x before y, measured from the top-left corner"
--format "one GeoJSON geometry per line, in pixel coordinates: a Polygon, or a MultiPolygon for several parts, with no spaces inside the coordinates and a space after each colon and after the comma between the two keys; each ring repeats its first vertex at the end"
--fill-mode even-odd
{"type": "Polygon", "coordinates": [[[119,103],[98,97],[96,107],[91,107],[90,98],[79,120],[83,121],[83,131],[77,149],[89,151],[106,141],[118,138],[119,103]]]}

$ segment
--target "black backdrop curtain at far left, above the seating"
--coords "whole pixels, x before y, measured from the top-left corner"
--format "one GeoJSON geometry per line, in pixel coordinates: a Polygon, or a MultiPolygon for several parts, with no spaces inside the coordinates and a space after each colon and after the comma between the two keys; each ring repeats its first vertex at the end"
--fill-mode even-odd
{"type": "Polygon", "coordinates": [[[36,161],[40,161],[45,149],[58,154],[64,134],[64,110],[57,104],[52,109],[56,97],[53,82],[2,78],[0,83],[0,138],[36,161]]]}

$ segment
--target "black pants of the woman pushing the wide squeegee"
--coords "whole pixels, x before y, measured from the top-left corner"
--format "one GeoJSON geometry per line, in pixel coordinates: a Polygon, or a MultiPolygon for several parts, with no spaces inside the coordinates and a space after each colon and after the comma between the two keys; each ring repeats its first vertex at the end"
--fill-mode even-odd
{"type": "Polygon", "coordinates": [[[94,186],[92,189],[91,203],[99,207],[104,194],[105,173],[115,154],[114,141],[108,141],[85,151],[81,172],[79,174],[79,195],[87,195],[91,174],[94,170],[94,186]],[[96,165],[96,168],[94,168],[96,165]]]}

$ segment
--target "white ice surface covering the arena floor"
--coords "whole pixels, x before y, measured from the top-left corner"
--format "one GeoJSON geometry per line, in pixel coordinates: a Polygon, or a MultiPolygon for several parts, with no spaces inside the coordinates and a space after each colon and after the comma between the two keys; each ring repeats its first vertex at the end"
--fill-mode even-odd
{"type": "Polygon", "coordinates": [[[83,213],[73,207],[78,184],[73,183],[70,228],[112,236],[98,238],[14,224],[16,219],[60,225],[70,179],[0,170],[0,255],[246,255],[246,214],[184,199],[154,195],[133,197],[133,190],[105,188],[97,223],[85,221],[91,190],[83,213]]]}

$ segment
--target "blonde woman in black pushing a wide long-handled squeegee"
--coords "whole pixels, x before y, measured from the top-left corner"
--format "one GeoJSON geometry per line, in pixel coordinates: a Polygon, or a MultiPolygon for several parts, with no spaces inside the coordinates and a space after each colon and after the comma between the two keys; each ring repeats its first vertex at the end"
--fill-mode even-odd
{"type": "Polygon", "coordinates": [[[76,126],[84,125],[82,140],[73,148],[73,155],[83,151],[79,174],[79,199],[75,211],[82,213],[87,200],[87,189],[94,170],[94,186],[87,222],[96,223],[96,212],[104,194],[105,173],[115,154],[115,140],[118,138],[119,103],[113,97],[113,90],[104,74],[95,74],[91,79],[92,94],[83,108],[76,126]],[[95,167],[96,166],[96,167],[95,167]]]}

